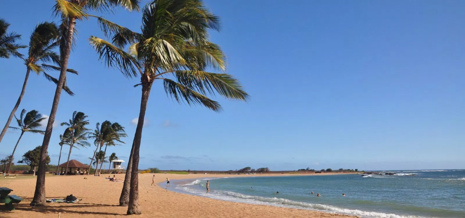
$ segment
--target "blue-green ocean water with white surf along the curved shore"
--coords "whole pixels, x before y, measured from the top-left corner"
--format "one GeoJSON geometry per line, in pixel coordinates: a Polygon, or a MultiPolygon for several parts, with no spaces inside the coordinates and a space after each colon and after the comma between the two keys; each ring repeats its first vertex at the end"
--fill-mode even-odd
{"type": "Polygon", "coordinates": [[[208,198],[363,218],[465,218],[465,170],[391,172],[397,174],[178,180],[168,188],[208,198]],[[206,180],[210,180],[208,194],[206,180]]]}

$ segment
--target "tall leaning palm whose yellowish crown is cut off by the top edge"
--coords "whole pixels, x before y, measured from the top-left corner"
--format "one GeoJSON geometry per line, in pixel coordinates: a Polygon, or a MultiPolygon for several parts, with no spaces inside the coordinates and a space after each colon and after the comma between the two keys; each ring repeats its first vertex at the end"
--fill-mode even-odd
{"type": "Polygon", "coordinates": [[[53,122],[55,121],[58,104],[60,102],[61,88],[66,81],[66,68],[68,67],[69,55],[73,46],[74,27],[76,20],[85,20],[87,11],[108,12],[114,11],[118,6],[124,7],[129,11],[139,11],[140,0],[56,0],[54,12],[61,18],[61,38],[60,38],[60,77],[58,78],[57,88],[53,96],[52,109],[45,130],[44,140],[42,141],[42,150],[40,151],[39,177],[37,177],[34,198],[31,206],[46,205],[45,200],[45,166],[48,143],[52,136],[53,122]]]}

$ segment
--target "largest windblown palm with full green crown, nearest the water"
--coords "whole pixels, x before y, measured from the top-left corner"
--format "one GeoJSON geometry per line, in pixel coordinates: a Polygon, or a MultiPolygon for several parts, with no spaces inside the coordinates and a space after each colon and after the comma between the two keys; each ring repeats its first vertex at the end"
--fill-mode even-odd
{"type": "Polygon", "coordinates": [[[201,0],[153,0],[142,9],[141,33],[111,22],[102,22],[101,26],[106,34],[113,35],[113,41],[89,38],[100,59],[127,78],[140,77],[136,86],[142,86],[139,121],[120,197],[120,205],[129,204],[127,214],[140,214],[139,150],[153,83],[162,81],[166,94],[178,102],[203,105],[216,112],[222,110],[221,106],[206,94],[217,92],[226,99],[243,101],[249,95],[233,76],[206,72],[226,71],[226,55],[209,41],[208,31],[219,31],[221,25],[219,17],[207,10],[201,0]],[[128,45],[129,52],[125,52],[128,45]],[[169,75],[174,80],[166,78],[169,75]]]}

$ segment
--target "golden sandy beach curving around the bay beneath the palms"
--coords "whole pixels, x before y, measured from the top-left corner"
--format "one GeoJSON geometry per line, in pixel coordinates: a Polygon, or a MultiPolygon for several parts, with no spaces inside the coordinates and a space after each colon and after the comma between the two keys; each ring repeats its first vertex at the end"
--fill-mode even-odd
{"type": "MultiPolygon", "coordinates": [[[[327,173],[330,174],[330,173],[327,173]]],[[[324,173],[321,176],[327,175],[324,173]]],[[[335,173],[332,173],[335,174],[335,173]]],[[[252,205],[245,203],[228,202],[211,198],[203,198],[183,193],[167,191],[162,187],[151,186],[152,176],[155,175],[157,183],[166,180],[166,176],[173,179],[189,178],[218,178],[233,176],[283,176],[282,174],[266,175],[204,175],[204,174],[139,174],[139,201],[142,209],[141,215],[133,217],[228,217],[228,218],[349,218],[352,216],[307,211],[292,208],[274,207],[267,205],[252,205]]],[[[292,176],[319,176],[320,174],[292,174],[292,176]]],[[[106,175],[108,176],[108,175],[106,175]]],[[[113,177],[113,175],[112,175],[113,177]]],[[[124,174],[117,174],[117,178],[124,179],[124,174]]],[[[31,207],[35,178],[4,179],[0,180],[1,187],[13,189],[11,194],[18,195],[24,200],[16,206],[15,211],[6,211],[5,205],[0,205],[1,218],[61,218],[71,217],[123,217],[126,216],[127,207],[120,207],[120,198],[123,183],[109,182],[102,177],[90,176],[51,176],[46,178],[47,198],[65,198],[73,194],[82,201],[75,204],[48,203],[45,207],[31,207]],[[88,179],[83,179],[87,177],[88,179]]]]}

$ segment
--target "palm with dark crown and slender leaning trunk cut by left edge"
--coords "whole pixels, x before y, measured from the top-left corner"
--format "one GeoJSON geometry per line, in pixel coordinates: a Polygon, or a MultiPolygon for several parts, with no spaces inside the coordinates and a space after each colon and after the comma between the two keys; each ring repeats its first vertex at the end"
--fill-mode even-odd
{"type": "MultiPolygon", "coordinates": [[[[53,78],[45,72],[45,70],[60,71],[60,55],[53,51],[57,46],[59,46],[59,41],[57,41],[58,36],[58,27],[54,23],[49,22],[40,23],[35,27],[33,33],[31,34],[27,58],[24,59],[20,57],[24,60],[24,64],[26,65],[26,77],[24,79],[20,97],[16,101],[16,105],[13,107],[13,110],[11,111],[10,116],[8,117],[7,124],[5,124],[5,127],[3,127],[3,130],[0,133],[0,142],[3,139],[5,133],[7,132],[8,126],[10,125],[11,120],[13,119],[14,113],[20,106],[21,99],[23,98],[24,92],[26,91],[27,79],[29,79],[29,73],[31,72],[31,70],[37,74],[42,73],[46,79],[54,82],[55,84],[58,83],[58,79],[53,78]],[[38,64],[39,62],[42,62],[42,64],[38,64]],[[52,62],[57,66],[47,65],[44,64],[44,62],[52,62]]],[[[77,72],[73,69],[67,69],[67,72],[77,74],[77,72]]],[[[66,86],[66,83],[63,86],[63,90],[65,90],[65,92],[71,96],[74,95],[74,93],[68,88],[68,86],[66,86]]]]}

